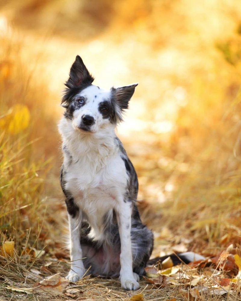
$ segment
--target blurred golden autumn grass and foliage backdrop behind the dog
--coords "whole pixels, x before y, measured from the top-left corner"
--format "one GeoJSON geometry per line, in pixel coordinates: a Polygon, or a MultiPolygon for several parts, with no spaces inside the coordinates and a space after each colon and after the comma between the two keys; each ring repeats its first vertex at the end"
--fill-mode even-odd
{"type": "Polygon", "coordinates": [[[239,0],[9,0],[0,45],[2,241],[64,245],[56,128],[79,54],[103,88],[139,82],[117,132],[154,255],[240,247],[239,0]]]}

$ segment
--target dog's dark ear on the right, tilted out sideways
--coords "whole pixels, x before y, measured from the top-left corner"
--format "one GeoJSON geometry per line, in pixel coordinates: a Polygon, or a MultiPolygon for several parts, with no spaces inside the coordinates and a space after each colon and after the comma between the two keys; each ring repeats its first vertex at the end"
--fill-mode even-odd
{"type": "Polygon", "coordinates": [[[128,109],[129,100],[132,98],[137,85],[138,83],[111,89],[112,96],[117,105],[116,113],[120,121],[122,121],[122,114],[124,113],[124,110],[128,109]]]}

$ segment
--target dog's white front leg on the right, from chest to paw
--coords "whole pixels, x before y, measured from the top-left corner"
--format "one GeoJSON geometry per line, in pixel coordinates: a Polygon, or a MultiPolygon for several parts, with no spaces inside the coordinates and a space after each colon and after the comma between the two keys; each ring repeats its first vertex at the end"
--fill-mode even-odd
{"type": "Polygon", "coordinates": [[[121,200],[117,213],[119,234],[121,239],[121,287],[126,290],[136,290],[139,288],[139,276],[133,273],[132,250],[131,250],[131,212],[132,203],[128,200],[121,200]]]}

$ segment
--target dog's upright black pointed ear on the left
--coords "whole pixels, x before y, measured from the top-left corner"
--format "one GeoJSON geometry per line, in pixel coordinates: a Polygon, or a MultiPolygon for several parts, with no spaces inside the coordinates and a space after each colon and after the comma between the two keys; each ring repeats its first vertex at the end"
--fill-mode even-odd
{"type": "Polygon", "coordinates": [[[68,88],[78,88],[80,85],[91,85],[94,78],[89,74],[82,58],[77,55],[70,68],[70,77],[65,83],[68,88]]]}

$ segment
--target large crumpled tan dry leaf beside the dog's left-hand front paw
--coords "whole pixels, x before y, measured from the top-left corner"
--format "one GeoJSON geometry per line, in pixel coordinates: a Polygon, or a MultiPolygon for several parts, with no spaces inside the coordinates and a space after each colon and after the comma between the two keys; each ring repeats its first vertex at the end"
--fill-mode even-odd
{"type": "Polygon", "coordinates": [[[69,280],[61,277],[60,274],[49,276],[34,284],[33,290],[40,294],[59,295],[69,285],[69,280]]]}

